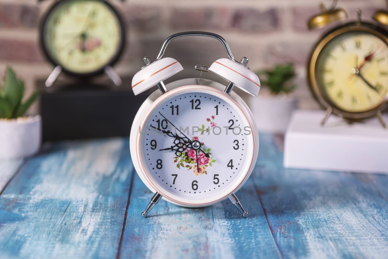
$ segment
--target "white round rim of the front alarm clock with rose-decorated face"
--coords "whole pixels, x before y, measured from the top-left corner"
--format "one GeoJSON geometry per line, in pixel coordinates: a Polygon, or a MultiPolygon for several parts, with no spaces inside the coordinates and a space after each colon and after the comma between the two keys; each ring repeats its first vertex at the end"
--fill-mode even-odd
{"type": "MultiPolygon", "coordinates": [[[[188,79],[178,80],[178,81],[185,81],[185,80],[191,80],[191,79],[193,79],[193,78],[188,78],[188,79]]],[[[211,80],[206,80],[206,81],[213,82],[211,80]]],[[[175,82],[172,82],[171,84],[173,84],[173,83],[175,83],[175,82]]],[[[216,83],[216,82],[213,82],[213,83],[216,83]]],[[[216,83],[216,84],[219,84],[219,83],[216,83]]],[[[221,84],[219,84],[219,85],[221,85],[221,84]]],[[[225,86],[223,86],[223,87],[225,87],[225,86]]],[[[212,205],[214,203],[217,203],[217,202],[224,200],[231,193],[234,193],[239,188],[241,188],[241,186],[247,181],[247,179],[251,175],[253,168],[255,167],[255,164],[256,164],[257,155],[258,155],[258,132],[257,132],[256,127],[255,127],[256,124],[255,124],[252,113],[249,110],[247,110],[247,109],[249,109],[248,106],[246,106],[244,101],[242,101],[241,97],[239,97],[236,93],[232,92],[232,96],[229,96],[229,95],[225,94],[222,90],[218,89],[218,87],[215,88],[215,87],[210,87],[207,85],[184,85],[184,86],[177,87],[173,90],[170,90],[167,93],[163,94],[163,96],[160,96],[159,90],[156,90],[149,98],[147,98],[146,101],[144,101],[144,103],[140,107],[137,115],[135,116],[135,120],[133,121],[131,134],[130,134],[130,149],[131,149],[131,156],[132,156],[133,165],[135,167],[137,174],[139,175],[139,177],[143,181],[143,183],[152,192],[157,191],[158,193],[160,193],[163,196],[164,200],[171,202],[173,204],[176,204],[176,205],[180,205],[180,206],[184,206],[184,207],[205,207],[205,206],[209,206],[209,205],[212,205]],[[235,107],[236,110],[238,111],[238,109],[240,109],[241,114],[246,117],[246,120],[248,121],[249,125],[251,126],[251,131],[253,132],[253,134],[249,138],[249,141],[252,141],[253,145],[251,145],[251,151],[248,151],[248,154],[249,154],[249,156],[252,157],[252,160],[250,162],[247,162],[246,165],[244,165],[244,168],[241,169],[240,176],[237,179],[238,181],[236,181],[236,183],[225,188],[218,195],[214,195],[210,198],[205,197],[205,198],[199,198],[199,199],[189,199],[189,198],[183,198],[183,197],[177,196],[172,192],[168,192],[165,189],[161,188],[162,185],[153,179],[150,172],[145,172],[148,170],[146,168],[146,166],[141,165],[142,164],[141,162],[145,161],[145,160],[139,151],[140,141],[142,140],[142,137],[139,136],[140,135],[139,134],[139,127],[141,127],[140,125],[142,125],[147,120],[147,118],[149,117],[151,112],[155,108],[158,107],[160,102],[164,101],[166,98],[170,98],[171,96],[181,94],[182,90],[198,90],[199,89],[199,88],[194,89],[193,87],[200,87],[202,90],[205,89],[204,91],[206,91],[206,92],[208,92],[210,90],[211,92],[208,92],[210,94],[214,94],[216,96],[217,96],[217,94],[222,94],[224,97],[232,100],[234,102],[234,105],[237,106],[237,107],[235,107]],[[155,93],[159,95],[159,97],[157,99],[152,98],[152,95],[154,95],[155,93]],[[167,93],[170,93],[170,94],[167,95],[167,93]],[[236,96],[237,96],[237,98],[236,98],[236,96]],[[156,102],[158,102],[158,103],[156,103],[156,102]],[[141,118],[139,118],[139,117],[141,117],[141,118]],[[243,172],[244,170],[246,172],[243,172]],[[167,195],[166,195],[166,193],[167,193],[167,195]],[[171,197],[171,196],[173,196],[173,197],[171,197]],[[204,200],[207,200],[207,202],[201,202],[204,200]],[[197,202],[197,201],[200,201],[200,202],[197,202]]]]}

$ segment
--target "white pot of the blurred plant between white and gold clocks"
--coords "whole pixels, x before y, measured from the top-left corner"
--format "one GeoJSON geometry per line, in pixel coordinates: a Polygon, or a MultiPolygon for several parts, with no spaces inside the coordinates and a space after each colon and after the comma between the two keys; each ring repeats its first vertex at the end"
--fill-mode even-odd
{"type": "Polygon", "coordinates": [[[249,97],[248,105],[259,132],[284,134],[298,102],[293,95],[259,94],[258,97],[249,97]]]}

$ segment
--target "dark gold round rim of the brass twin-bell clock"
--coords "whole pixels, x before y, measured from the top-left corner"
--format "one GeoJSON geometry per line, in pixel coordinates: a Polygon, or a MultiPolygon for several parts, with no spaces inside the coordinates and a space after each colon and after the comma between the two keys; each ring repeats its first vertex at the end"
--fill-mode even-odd
{"type": "Polygon", "coordinates": [[[340,107],[337,107],[334,103],[332,103],[329,100],[326,94],[320,91],[319,83],[315,78],[315,68],[317,65],[317,59],[322,49],[333,38],[338,37],[339,35],[343,35],[344,33],[348,33],[350,31],[363,31],[363,32],[371,33],[372,35],[375,35],[376,37],[383,40],[383,42],[385,42],[385,44],[388,46],[388,37],[385,36],[385,35],[388,35],[388,30],[386,30],[385,28],[382,28],[379,24],[372,24],[368,22],[361,22],[361,23],[351,22],[351,23],[346,23],[346,24],[337,26],[332,30],[328,31],[327,33],[325,33],[315,43],[307,63],[307,80],[308,80],[308,86],[310,91],[312,92],[315,100],[320,104],[321,107],[325,109],[332,108],[334,114],[339,115],[346,119],[361,120],[365,118],[370,118],[372,116],[376,116],[376,113],[378,113],[378,111],[383,110],[387,106],[388,96],[386,96],[385,99],[383,99],[383,101],[381,101],[379,104],[377,104],[376,106],[374,106],[373,108],[367,111],[360,111],[360,112],[345,111],[345,110],[342,110],[340,107]]]}

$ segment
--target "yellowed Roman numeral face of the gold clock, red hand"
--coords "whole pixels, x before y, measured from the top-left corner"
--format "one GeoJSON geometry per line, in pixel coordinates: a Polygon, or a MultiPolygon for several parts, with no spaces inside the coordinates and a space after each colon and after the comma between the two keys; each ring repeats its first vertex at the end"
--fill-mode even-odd
{"type": "Polygon", "coordinates": [[[318,56],[319,88],[340,110],[371,110],[387,95],[387,54],[388,46],[375,35],[343,33],[330,40],[318,56]]]}

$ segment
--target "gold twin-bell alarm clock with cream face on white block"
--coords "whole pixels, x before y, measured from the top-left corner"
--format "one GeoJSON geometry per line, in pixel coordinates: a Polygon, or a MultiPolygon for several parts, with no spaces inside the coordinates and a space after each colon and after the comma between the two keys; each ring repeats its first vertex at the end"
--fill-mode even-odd
{"type": "MultiPolygon", "coordinates": [[[[336,21],[346,17],[342,9],[329,10],[310,19],[336,21]],[[333,19],[334,17],[334,19],[333,19]],[[338,19],[336,19],[338,18],[338,19]]],[[[379,24],[341,24],[314,46],[308,62],[308,82],[314,97],[330,113],[348,120],[378,116],[388,101],[388,31],[379,24]]]]}

